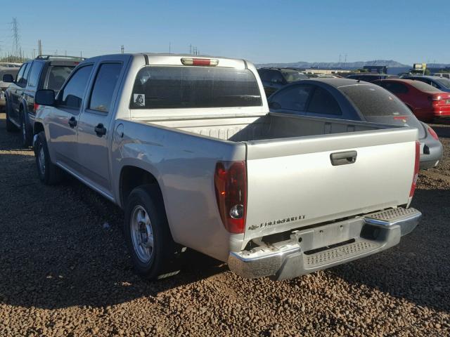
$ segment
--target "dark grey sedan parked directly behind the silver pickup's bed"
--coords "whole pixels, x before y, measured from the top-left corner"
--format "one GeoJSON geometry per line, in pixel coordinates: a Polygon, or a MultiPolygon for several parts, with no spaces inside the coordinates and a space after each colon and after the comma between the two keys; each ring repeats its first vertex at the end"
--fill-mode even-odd
{"type": "Polygon", "coordinates": [[[420,169],[437,166],[442,144],[435,131],[420,122],[389,91],[353,79],[314,79],[285,86],[269,98],[271,112],[311,117],[372,121],[418,129],[420,169]]]}

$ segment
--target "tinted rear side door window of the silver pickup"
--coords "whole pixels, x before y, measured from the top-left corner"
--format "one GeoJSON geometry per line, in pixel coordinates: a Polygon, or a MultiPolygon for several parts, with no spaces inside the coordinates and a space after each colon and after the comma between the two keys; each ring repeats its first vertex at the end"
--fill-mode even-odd
{"type": "Polygon", "coordinates": [[[92,88],[89,109],[101,112],[109,111],[121,70],[122,64],[120,63],[104,63],[100,66],[94,88],[92,88]]]}

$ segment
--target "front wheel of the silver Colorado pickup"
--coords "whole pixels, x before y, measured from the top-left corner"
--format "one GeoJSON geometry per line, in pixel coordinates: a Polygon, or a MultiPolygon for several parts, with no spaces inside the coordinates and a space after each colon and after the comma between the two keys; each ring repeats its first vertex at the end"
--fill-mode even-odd
{"type": "Polygon", "coordinates": [[[56,185],[60,183],[63,172],[51,162],[44,131],[39,132],[37,135],[36,143],[34,144],[34,156],[36,157],[39,180],[45,185],[56,185]]]}

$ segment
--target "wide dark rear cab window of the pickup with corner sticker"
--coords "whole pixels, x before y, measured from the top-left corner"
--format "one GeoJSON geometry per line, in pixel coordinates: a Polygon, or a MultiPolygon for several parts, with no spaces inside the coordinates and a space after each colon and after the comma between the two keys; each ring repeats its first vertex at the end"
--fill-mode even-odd
{"type": "Polygon", "coordinates": [[[250,70],[213,67],[143,67],[130,102],[131,109],[260,105],[261,94],[250,70]]]}

